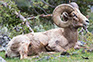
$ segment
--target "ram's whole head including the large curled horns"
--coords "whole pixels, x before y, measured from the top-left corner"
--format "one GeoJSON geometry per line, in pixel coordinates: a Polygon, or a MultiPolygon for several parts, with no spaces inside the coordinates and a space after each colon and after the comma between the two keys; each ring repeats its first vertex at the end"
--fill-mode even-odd
{"type": "Polygon", "coordinates": [[[62,28],[69,26],[74,28],[85,27],[89,24],[89,20],[80,12],[75,2],[58,5],[53,11],[53,21],[62,28]]]}

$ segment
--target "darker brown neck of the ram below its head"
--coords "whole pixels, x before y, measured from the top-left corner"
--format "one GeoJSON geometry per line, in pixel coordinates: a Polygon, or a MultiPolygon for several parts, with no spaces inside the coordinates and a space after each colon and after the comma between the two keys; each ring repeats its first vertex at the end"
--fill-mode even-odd
{"type": "MultiPolygon", "coordinates": [[[[72,44],[72,46],[75,45],[75,43],[77,42],[77,29],[75,28],[64,28],[64,32],[62,33],[63,36],[68,40],[68,44],[72,44]]],[[[72,47],[71,46],[71,47],[72,47]]]]}

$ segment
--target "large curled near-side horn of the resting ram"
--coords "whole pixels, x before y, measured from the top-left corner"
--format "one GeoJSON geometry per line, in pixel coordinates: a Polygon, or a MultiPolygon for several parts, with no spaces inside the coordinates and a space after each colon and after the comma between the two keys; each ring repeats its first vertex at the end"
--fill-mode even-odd
{"type": "Polygon", "coordinates": [[[61,4],[57,6],[53,11],[53,21],[54,23],[59,27],[68,27],[70,25],[70,21],[62,21],[61,20],[61,14],[63,12],[67,12],[70,14],[72,11],[74,11],[74,8],[69,4],[61,4]]]}

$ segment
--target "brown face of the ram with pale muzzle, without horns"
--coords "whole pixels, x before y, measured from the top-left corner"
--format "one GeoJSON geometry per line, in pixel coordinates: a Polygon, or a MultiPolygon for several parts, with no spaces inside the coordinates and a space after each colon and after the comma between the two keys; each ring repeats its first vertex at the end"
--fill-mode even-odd
{"type": "Polygon", "coordinates": [[[89,20],[79,11],[78,8],[74,8],[72,14],[72,26],[75,28],[86,27],[89,24],[89,20]]]}

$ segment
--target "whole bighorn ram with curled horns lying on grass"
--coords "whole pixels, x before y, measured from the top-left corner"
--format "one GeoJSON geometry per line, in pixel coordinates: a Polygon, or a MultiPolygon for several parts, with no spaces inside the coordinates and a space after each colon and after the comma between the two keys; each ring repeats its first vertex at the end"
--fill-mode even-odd
{"type": "Polygon", "coordinates": [[[53,11],[53,21],[61,28],[14,37],[8,44],[6,57],[20,55],[22,59],[42,51],[66,51],[75,46],[77,29],[89,24],[89,20],[79,11],[78,5],[74,2],[58,5],[53,11]]]}

